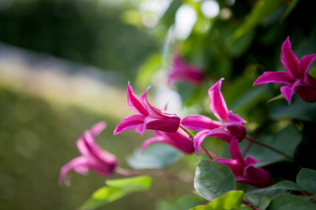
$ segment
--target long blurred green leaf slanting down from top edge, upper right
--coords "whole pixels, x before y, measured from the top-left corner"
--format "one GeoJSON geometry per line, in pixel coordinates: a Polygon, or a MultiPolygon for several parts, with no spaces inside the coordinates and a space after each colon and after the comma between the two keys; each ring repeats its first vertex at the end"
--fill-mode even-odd
{"type": "Polygon", "coordinates": [[[245,32],[248,32],[259,25],[261,20],[281,7],[282,4],[283,2],[281,0],[258,0],[253,6],[248,18],[234,32],[234,40],[240,38],[245,32]]]}

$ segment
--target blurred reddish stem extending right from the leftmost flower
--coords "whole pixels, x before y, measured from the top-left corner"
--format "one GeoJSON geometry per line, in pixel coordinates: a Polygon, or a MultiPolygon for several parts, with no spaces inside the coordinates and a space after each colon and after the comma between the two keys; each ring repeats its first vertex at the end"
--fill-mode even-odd
{"type": "Polygon", "coordinates": [[[160,176],[164,178],[171,179],[173,181],[185,183],[185,184],[190,184],[193,185],[193,180],[187,179],[187,178],[182,178],[178,177],[176,175],[173,175],[167,171],[159,171],[159,170],[134,170],[134,169],[124,169],[121,167],[116,167],[114,171],[118,174],[124,175],[124,176],[133,176],[133,175],[141,175],[141,174],[150,174],[150,175],[155,175],[155,176],[160,176]]]}

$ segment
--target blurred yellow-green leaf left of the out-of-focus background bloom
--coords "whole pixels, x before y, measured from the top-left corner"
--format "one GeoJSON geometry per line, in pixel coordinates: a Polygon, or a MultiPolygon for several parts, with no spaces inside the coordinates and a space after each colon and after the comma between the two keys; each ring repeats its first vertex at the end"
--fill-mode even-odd
{"type": "Polygon", "coordinates": [[[154,53],[139,67],[136,76],[136,84],[139,88],[146,88],[151,82],[153,74],[162,67],[161,54],[154,53]]]}

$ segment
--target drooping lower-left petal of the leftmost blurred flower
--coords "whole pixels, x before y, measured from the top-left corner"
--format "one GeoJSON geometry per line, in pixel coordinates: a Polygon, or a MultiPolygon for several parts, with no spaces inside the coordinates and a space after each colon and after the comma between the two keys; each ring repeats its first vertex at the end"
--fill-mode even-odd
{"type": "Polygon", "coordinates": [[[65,164],[63,167],[61,167],[60,169],[60,174],[59,174],[59,178],[58,178],[58,183],[59,184],[63,184],[67,173],[73,169],[76,168],[76,172],[77,173],[81,173],[83,175],[86,175],[88,172],[88,158],[85,156],[79,156],[76,157],[72,160],[70,160],[67,164],[65,164]]]}

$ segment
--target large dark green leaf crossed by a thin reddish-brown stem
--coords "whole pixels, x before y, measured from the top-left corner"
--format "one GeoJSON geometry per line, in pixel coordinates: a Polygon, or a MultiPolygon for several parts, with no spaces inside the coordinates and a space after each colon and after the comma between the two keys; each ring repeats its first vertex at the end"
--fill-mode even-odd
{"type": "MultiPolygon", "coordinates": [[[[301,140],[301,133],[292,126],[284,128],[283,130],[277,132],[274,136],[260,136],[257,138],[257,141],[279,149],[292,157],[301,140]]],[[[259,162],[255,165],[256,167],[266,166],[276,161],[285,159],[282,155],[255,144],[251,146],[246,156],[252,156],[256,160],[259,160],[259,162]]]]}

